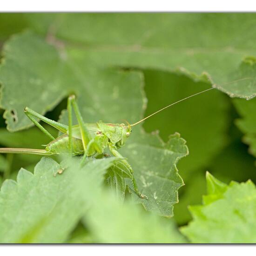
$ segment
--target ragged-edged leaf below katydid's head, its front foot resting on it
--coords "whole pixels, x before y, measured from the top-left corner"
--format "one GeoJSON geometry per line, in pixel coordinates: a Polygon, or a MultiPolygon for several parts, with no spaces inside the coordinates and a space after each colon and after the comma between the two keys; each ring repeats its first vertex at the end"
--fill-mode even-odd
{"type": "MultiPolygon", "coordinates": [[[[178,189],[184,185],[178,174],[176,163],[188,154],[186,141],[178,133],[170,135],[167,143],[157,135],[134,132],[126,147],[120,152],[128,158],[135,172],[135,178],[142,194],[148,200],[133,193],[133,200],[143,204],[145,209],[162,216],[173,216],[173,206],[178,202],[178,189]]],[[[127,180],[130,191],[133,185],[127,180]]]]}

